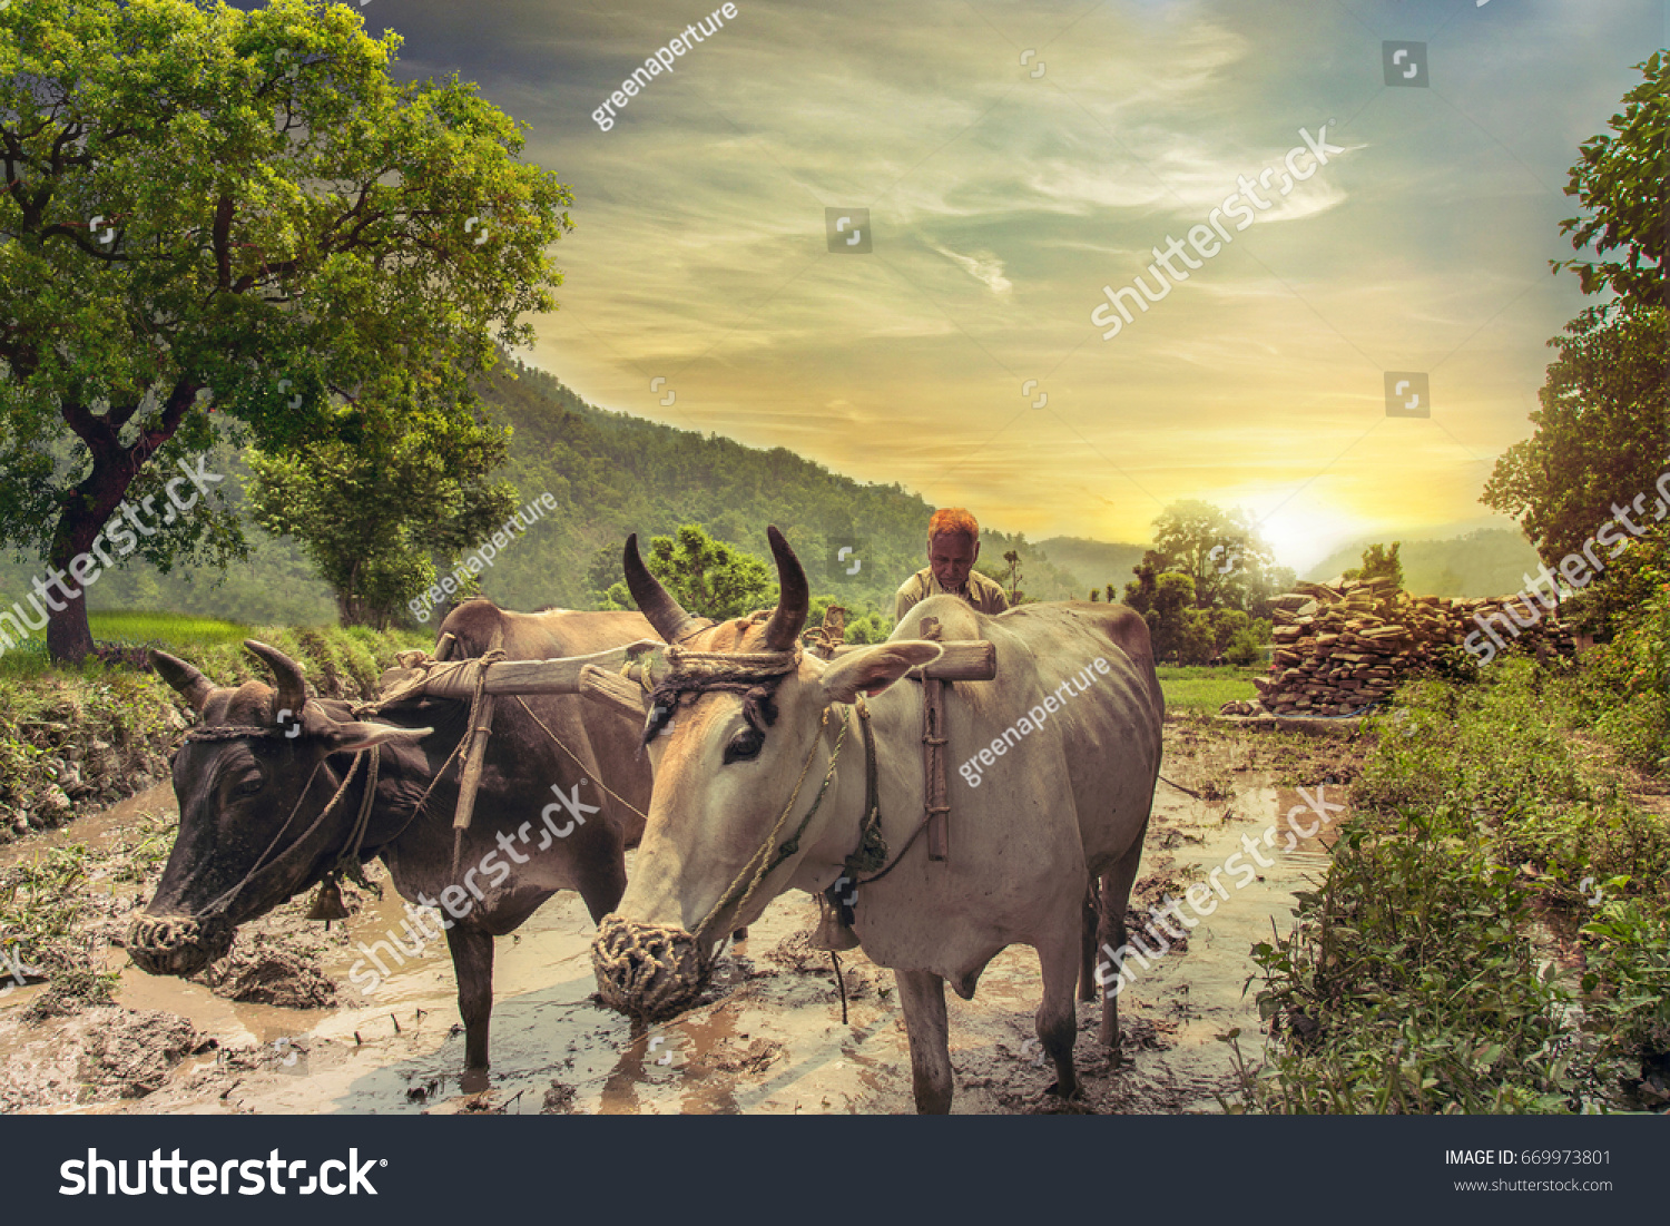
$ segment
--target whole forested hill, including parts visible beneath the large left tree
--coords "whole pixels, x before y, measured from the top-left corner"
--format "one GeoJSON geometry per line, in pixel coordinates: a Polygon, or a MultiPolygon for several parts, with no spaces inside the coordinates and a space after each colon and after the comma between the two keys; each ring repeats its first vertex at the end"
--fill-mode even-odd
{"type": "MultiPolygon", "coordinates": [[[[549,493],[556,511],[518,536],[483,580],[509,608],[544,605],[595,608],[596,593],[621,578],[628,533],[640,541],[703,524],[710,534],[770,561],[767,524],[782,528],[807,566],[812,588],[853,613],[893,611],[893,591],[925,565],[934,508],[902,486],[860,484],[777,448],[758,451],[718,436],[606,413],[549,374],[511,362],[483,388],[488,411],[513,428],[509,463],[523,504],[549,493]],[[838,566],[828,555],[852,553],[838,566]],[[858,573],[845,571],[858,563],[858,573]]],[[[234,456],[210,464],[227,474],[229,493],[247,476],[234,456]]],[[[975,514],[980,508],[970,508],[975,514]]],[[[329,588],[314,578],[299,545],[245,526],[252,556],[219,571],[162,575],[130,565],[89,590],[94,610],[159,610],[239,621],[319,623],[336,616],[329,588]]],[[[982,531],[982,570],[1004,570],[1004,553],[1022,555],[1022,591],[1040,600],[1084,596],[1107,578],[1057,570],[1019,536],[982,531]]],[[[1139,555],[1141,550],[1134,550],[1139,555]]],[[[444,560],[438,560],[444,561],[444,560]]],[[[35,560],[0,558],[0,585],[28,591],[35,560]]],[[[1121,575],[1124,583],[1129,575],[1121,575]]]]}

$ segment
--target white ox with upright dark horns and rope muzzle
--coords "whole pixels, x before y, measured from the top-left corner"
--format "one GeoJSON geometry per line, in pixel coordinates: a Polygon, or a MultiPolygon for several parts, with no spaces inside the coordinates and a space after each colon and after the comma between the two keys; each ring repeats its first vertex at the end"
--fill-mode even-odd
{"type": "MultiPolygon", "coordinates": [[[[917,1109],[950,1109],[945,980],[970,999],[985,965],[1012,944],[1039,954],[1037,1036],[1055,1064],[1050,1091],[1074,1096],[1074,984],[1080,970],[1089,979],[1094,944],[1126,942],[1126,902],[1159,772],[1164,703],[1147,626],[1119,605],[1024,605],[985,616],[939,596],[912,610],[887,643],[823,663],[798,655],[807,580],[775,528],[770,538],[778,608],[770,621],[721,625],[685,613],[645,570],[636,540],[626,545],[640,610],[668,643],[706,653],[696,666],[723,675],[725,655],[780,653],[788,671],[755,690],[752,720],[738,686],[708,688],[686,693],[655,738],[650,823],[626,894],[593,945],[603,999],[648,1017],[688,1007],[726,932],[755,922],[778,894],[822,892],[843,874],[860,842],[867,792],[853,703],[872,695],[880,828],[888,862],[898,859],[883,879],[858,885],[853,930],[865,954],[897,977],[917,1109]],[[957,683],[947,695],[952,762],[1002,742],[1047,697],[1055,705],[1019,743],[1010,735],[1012,748],[984,768],[979,787],[952,778],[944,862],[929,859],[925,838],[910,842],[924,815],[924,697],[913,681],[895,685],[940,655],[915,638],[925,616],[940,621],[945,640],[984,638],[997,651],[997,680],[957,683]],[[1094,680],[1079,693],[1072,676],[1094,680]],[[850,728],[828,795],[812,812],[843,718],[850,728]],[[785,844],[795,844],[787,855],[785,844]],[[1084,917],[1097,879],[1092,934],[1084,917]]],[[[768,656],[753,656],[762,660],[768,656]]],[[[1117,1002],[1104,994],[1099,1039],[1116,1047],[1117,1037],[1117,1002]]]]}

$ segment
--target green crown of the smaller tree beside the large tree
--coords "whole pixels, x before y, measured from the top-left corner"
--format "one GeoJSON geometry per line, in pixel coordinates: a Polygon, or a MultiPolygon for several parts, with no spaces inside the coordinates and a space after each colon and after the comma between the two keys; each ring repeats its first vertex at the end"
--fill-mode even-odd
{"type": "Polygon", "coordinates": [[[352,441],[250,451],[249,511],[301,540],[336,591],[344,625],[389,625],[436,580],[433,555],[454,560],[516,509],[516,489],[489,479],[509,433],[468,408],[411,414],[404,433],[361,423],[352,441]]]}

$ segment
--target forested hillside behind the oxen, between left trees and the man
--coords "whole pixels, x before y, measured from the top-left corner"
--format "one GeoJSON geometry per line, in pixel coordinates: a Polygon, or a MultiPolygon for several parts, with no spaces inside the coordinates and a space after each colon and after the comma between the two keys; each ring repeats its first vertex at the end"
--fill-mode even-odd
{"type": "MultiPolygon", "coordinates": [[[[893,591],[925,565],[934,508],[902,486],[860,484],[783,448],[758,451],[606,413],[544,371],[514,362],[491,379],[484,399],[514,429],[504,474],[524,501],[549,491],[558,504],[484,576],[486,591],[501,603],[588,608],[598,590],[621,578],[628,533],[643,541],[686,523],[765,560],[765,528],[777,524],[813,590],[853,610],[892,615],[893,591]],[[842,546],[852,550],[845,558],[837,556],[842,546]],[[847,575],[853,563],[858,573],[847,575]]],[[[1029,595],[1062,600],[1089,588],[1089,580],[1052,566],[1024,538],[984,528],[982,568],[1004,568],[1010,550],[1022,556],[1020,586],[1029,595]]]]}

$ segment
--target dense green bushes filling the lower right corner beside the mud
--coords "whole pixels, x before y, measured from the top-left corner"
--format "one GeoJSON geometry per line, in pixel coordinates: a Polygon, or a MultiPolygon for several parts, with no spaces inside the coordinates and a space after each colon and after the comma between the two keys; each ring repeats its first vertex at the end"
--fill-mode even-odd
{"type": "Polygon", "coordinates": [[[1638,1106],[1643,1059],[1667,1052],[1670,830],[1581,745],[1592,681],[1505,660],[1480,685],[1399,698],[1326,882],[1299,895],[1289,937],[1254,949],[1276,1042],[1241,1066],[1239,1106],[1638,1106]],[[1580,987],[1536,930],[1550,910],[1585,914],[1592,882],[1608,902],[1583,925],[1580,987]]]}

